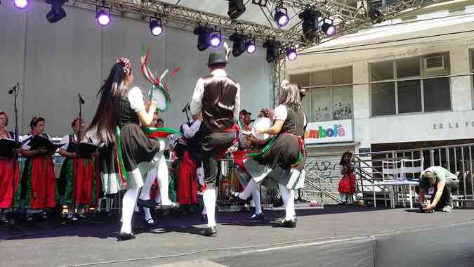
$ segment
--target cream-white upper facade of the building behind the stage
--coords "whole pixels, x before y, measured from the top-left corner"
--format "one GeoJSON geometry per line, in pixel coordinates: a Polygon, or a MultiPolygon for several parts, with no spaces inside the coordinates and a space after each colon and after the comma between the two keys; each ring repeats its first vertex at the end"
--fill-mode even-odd
{"type": "MultiPolygon", "coordinates": [[[[440,21],[409,23],[396,27],[381,27],[336,39],[322,46],[311,48],[310,51],[368,44],[376,41],[469,31],[473,27],[474,18],[472,15],[440,21]]],[[[474,48],[473,37],[473,32],[447,34],[441,37],[414,39],[402,43],[368,46],[364,49],[358,47],[357,51],[353,52],[299,56],[294,62],[287,63],[286,74],[353,66],[353,83],[360,84],[353,86],[354,138],[357,148],[370,147],[371,143],[474,138],[472,77],[451,78],[451,112],[427,112],[383,117],[371,117],[370,86],[367,84],[369,83],[369,63],[437,52],[449,51],[451,74],[469,73],[469,50],[474,48]],[[440,124],[443,125],[443,129],[440,129],[440,124]]]]}

